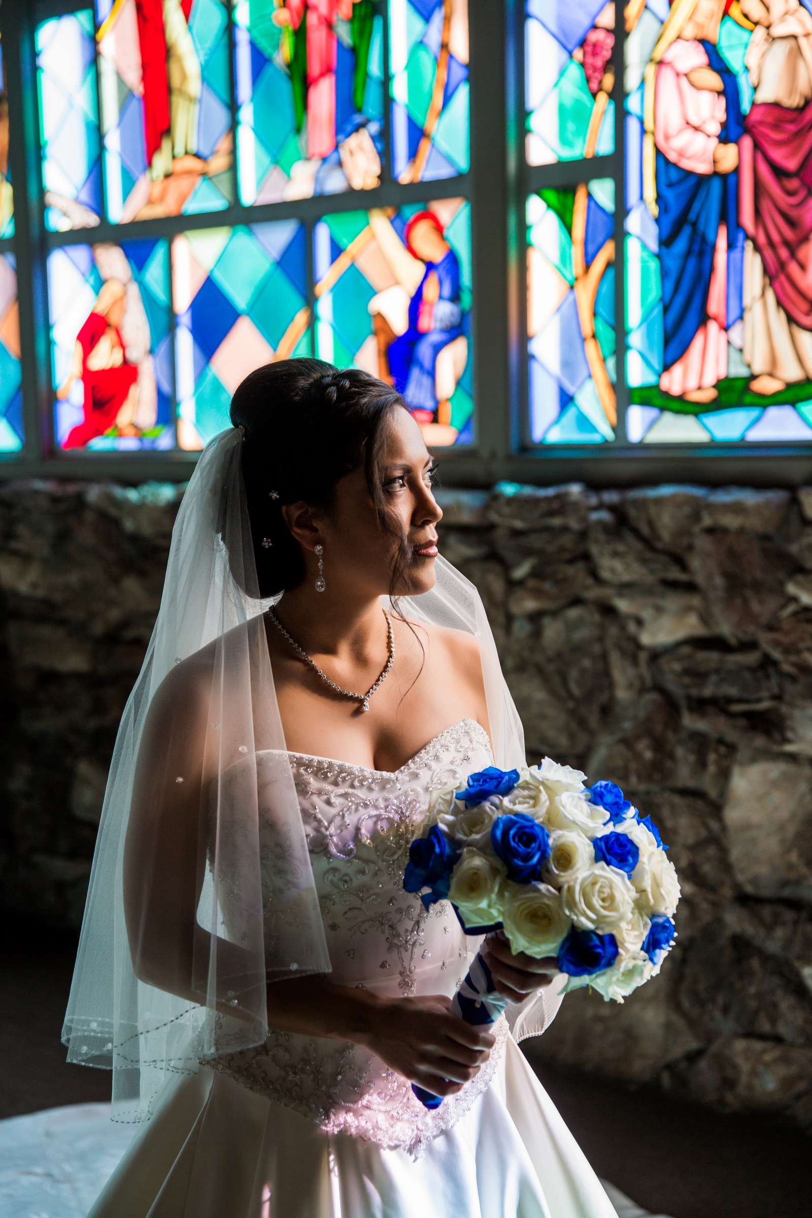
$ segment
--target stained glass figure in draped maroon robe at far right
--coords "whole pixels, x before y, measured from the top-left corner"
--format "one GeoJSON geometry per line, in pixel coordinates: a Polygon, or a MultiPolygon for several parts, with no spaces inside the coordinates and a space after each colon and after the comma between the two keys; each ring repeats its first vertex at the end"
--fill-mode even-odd
{"type": "Polygon", "coordinates": [[[741,140],[744,358],[750,387],[812,379],[812,16],[797,0],[741,0],[755,23],[755,93],[741,140]]]}

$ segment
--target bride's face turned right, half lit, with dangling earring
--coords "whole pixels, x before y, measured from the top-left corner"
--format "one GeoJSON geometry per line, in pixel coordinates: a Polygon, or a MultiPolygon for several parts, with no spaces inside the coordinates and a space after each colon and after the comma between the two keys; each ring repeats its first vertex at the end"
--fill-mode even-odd
{"type": "MultiPolygon", "coordinates": [[[[383,496],[391,527],[407,544],[408,560],[396,593],[416,596],[435,585],[436,553],[419,548],[437,540],[442,510],[432,493],[431,469],[435,464],[420,428],[404,408],[394,410],[383,447],[383,496]]],[[[392,564],[398,549],[397,536],[382,532],[362,468],[342,477],[336,486],[336,504],[330,519],[330,538],[325,541],[330,566],[354,587],[371,594],[390,590],[392,564]]]]}

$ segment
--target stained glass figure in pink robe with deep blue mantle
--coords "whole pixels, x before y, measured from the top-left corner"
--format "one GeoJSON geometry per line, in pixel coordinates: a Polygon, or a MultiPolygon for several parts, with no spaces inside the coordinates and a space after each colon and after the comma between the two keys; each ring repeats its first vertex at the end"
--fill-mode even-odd
{"type": "Polygon", "coordinates": [[[712,402],[741,317],[735,74],[718,52],[730,0],[673,0],[645,73],[644,195],[657,220],[662,278],[660,387],[712,402]]]}

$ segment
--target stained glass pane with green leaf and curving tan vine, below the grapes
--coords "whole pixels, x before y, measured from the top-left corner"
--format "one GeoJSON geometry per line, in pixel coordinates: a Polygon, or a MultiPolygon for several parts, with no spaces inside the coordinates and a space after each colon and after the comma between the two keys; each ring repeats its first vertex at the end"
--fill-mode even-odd
{"type": "Polygon", "coordinates": [[[615,183],[599,178],[527,200],[531,440],[614,440],[615,183]]]}

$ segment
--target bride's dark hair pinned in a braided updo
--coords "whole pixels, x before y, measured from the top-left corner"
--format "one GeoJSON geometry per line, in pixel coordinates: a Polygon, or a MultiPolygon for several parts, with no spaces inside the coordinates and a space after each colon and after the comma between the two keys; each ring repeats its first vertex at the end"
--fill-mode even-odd
{"type": "Polygon", "coordinates": [[[402,396],[376,376],[323,359],[280,359],[237,385],[229,417],[245,429],[242,475],[262,598],[290,591],[306,576],[302,549],[281,513],[286,503],[303,499],[330,512],[338,479],[363,465],[381,529],[390,527],[382,458],[398,407],[402,396]],[[271,490],[279,498],[270,498],[271,490]],[[263,537],[273,546],[264,548],[263,537]]]}

